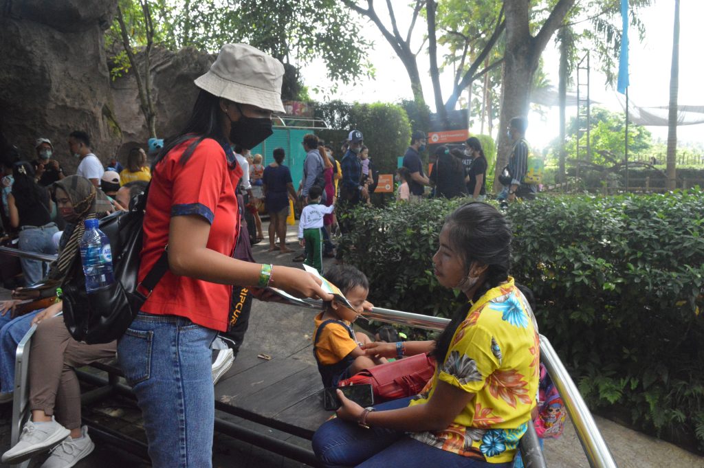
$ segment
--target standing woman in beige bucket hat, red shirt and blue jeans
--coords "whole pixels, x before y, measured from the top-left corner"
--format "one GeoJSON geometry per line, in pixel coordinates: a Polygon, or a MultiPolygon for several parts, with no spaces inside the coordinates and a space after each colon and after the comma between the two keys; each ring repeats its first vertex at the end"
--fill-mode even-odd
{"type": "Polygon", "coordinates": [[[153,165],[138,281],[163,255],[168,271],[120,339],[118,360],[142,410],[155,468],[212,467],[210,345],[227,330],[233,285],[260,298],[276,286],[332,300],[308,272],[232,257],[242,176],[232,146],[253,148],[272,134],[272,113],[284,112],[283,75],[282,63],[252,46],[222,46],[195,80],[200,91],[187,124],[153,165]]]}

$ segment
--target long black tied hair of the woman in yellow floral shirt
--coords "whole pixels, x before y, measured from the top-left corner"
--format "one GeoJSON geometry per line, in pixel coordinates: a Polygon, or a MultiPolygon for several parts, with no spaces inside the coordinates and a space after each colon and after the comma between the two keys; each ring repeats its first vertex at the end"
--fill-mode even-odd
{"type": "MultiPolygon", "coordinates": [[[[482,202],[465,203],[448,215],[444,229],[448,229],[452,250],[462,257],[465,277],[474,262],[487,267],[484,283],[474,293],[472,302],[508,279],[511,230],[508,221],[496,208],[482,202]]],[[[470,304],[463,304],[455,310],[452,321],[436,340],[432,354],[438,362],[445,359],[452,337],[470,307],[470,304]]]]}

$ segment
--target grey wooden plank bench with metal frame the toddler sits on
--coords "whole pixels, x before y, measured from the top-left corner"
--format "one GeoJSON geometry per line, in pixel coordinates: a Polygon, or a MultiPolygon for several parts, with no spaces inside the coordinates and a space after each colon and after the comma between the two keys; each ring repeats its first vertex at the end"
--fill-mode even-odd
{"type": "MultiPolygon", "coordinates": [[[[27,332],[17,351],[13,445],[18,441],[21,428],[29,417],[27,362],[33,332],[34,328],[27,332]],[[20,398],[17,398],[18,396],[20,398]]],[[[257,356],[256,351],[253,350],[240,351],[232,368],[215,386],[215,409],[310,440],[320,424],[333,414],[322,407],[322,381],[318,368],[303,362],[295,355],[275,357],[271,360],[257,356]]],[[[121,369],[117,367],[117,362],[96,363],[91,367],[106,372],[108,377],[105,379],[85,372],[84,369],[77,369],[79,378],[84,383],[95,387],[82,393],[83,405],[90,405],[115,394],[134,398],[131,389],[120,381],[123,375],[121,369]]],[[[117,445],[134,455],[142,456],[146,460],[149,459],[143,442],[125,434],[119,434],[103,424],[86,418],[84,423],[90,426],[91,433],[99,439],[117,445]]],[[[298,462],[313,467],[320,466],[312,450],[268,436],[262,431],[253,431],[219,417],[215,418],[215,431],[298,462]]],[[[535,447],[538,447],[536,437],[531,425],[529,432],[521,441],[522,452],[531,453],[532,458],[537,461],[532,460],[533,462],[526,464],[527,467],[545,467],[542,453],[539,449],[535,450],[535,447]]],[[[18,466],[26,467],[27,464],[28,462],[25,462],[18,466]]]]}

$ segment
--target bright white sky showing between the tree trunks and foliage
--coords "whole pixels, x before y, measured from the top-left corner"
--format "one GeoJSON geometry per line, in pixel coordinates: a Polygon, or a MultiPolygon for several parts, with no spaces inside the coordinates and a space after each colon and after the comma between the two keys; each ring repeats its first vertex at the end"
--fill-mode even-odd
{"type": "MultiPolygon", "coordinates": [[[[410,8],[403,6],[403,2],[394,2],[396,15],[399,19],[399,29],[405,35],[407,27],[404,23],[410,17],[410,8]]],[[[383,4],[377,7],[384,10],[383,4]]],[[[679,40],[679,103],[692,106],[704,106],[703,54],[701,44],[701,18],[704,18],[704,0],[681,0],[680,11],[680,40],[679,40]]],[[[381,16],[382,11],[379,11],[381,16]]],[[[631,28],[630,39],[630,79],[629,98],[631,103],[639,106],[667,106],[670,100],[670,65],[672,58],[672,25],[674,20],[674,1],[655,0],[654,5],[640,12],[641,19],[646,27],[646,37],[639,41],[636,31],[631,28]]],[[[388,21],[386,21],[388,24],[388,21]]],[[[416,25],[416,46],[420,46],[425,22],[416,25]]],[[[375,42],[375,47],[370,53],[370,61],[375,66],[375,78],[365,79],[356,86],[338,87],[337,92],[326,91],[323,94],[311,94],[315,99],[344,99],[346,101],[360,102],[394,102],[400,99],[412,99],[410,80],[406,69],[391,46],[386,42],[377,27],[371,23],[363,22],[359,34],[375,42]]],[[[545,70],[548,79],[557,87],[558,83],[558,51],[555,42],[551,40],[548,48],[543,53],[545,70]]],[[[422,74],[423,91],[425,99],[431,108],[434,108],[432,96],[432,83],[428,75],[428,58],[421,53],[418,65],[422,74]]],[[[303,80],[310,87],[330,89],[330,83],[320,74],[321,63],[311,63],[303,68],[303,80]]],[[[447,99],[451,91],[451,74],[441,77],[444,98],[447,99]]],[[[619,106],[615,91],[605,87],[605,79],[594,68],[591,75],[591,96],[612,110],[622,110],[619,106]]],[[[567,109],[567,118],[574,115],[574,108],[567,109]]],[[[535,148],[541,148],[558,136],[558,108],[551,108],[544,118],[532,113],[529,116],[529,141],[535,148]]],[[[667,138],[667,127],[648,127],[653,137],[667,138]]],[[[478,132],[479,129],[477,128],[478,132]]],[[[678,128],[679,141],[691,141],[704,144],[704,125],[689,125],[678,128]]]]}

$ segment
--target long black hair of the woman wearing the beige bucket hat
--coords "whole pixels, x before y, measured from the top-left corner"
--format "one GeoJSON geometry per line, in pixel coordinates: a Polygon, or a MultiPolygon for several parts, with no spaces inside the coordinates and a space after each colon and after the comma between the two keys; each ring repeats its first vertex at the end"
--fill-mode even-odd
{"type": "Polygon", "coordinates": [[[193,110],[191,110],[191,117],[181,132],[164,142],[164,147],[159,151],[151,167],[152,171],[169,151],[191,138],[196,137],[197,139],[184,151],[179,161],[181,164],[187,163],[196,146],[204,139],[212,138],[216,141],[227,141],[226,136],[222,134],[223,118],[225,118],[225,113],[220,109],[220,98],[201,89],[198,98],[196,98],[196,103],[193,105],[193,110]]]}

